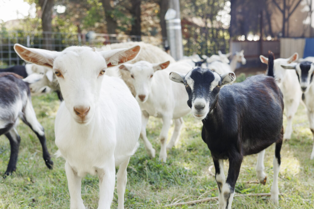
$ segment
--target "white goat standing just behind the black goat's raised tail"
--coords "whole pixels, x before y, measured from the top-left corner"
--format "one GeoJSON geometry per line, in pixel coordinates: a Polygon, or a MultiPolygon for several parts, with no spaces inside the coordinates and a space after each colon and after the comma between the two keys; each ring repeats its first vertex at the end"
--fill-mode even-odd
{"type": "MultiPolygon", "coordinates": [[[[260,55],[260,60],[264,64],[268,64],[268,58],[260,55]]],[[[297,111],[302,91],[300,89],[300,83],[298,76],[294,71],[287,71],[280,65],[287,65],[298,60],[299,54],[294,53],[291,57],[284,59],[278,58],[274,60],[274,75],[277,80],[277,84],[284,95],[284,109],[287,116],[287,126],[284,129],[284,139],[290,139],[292,134],[292,119],[297,111]]]]}

